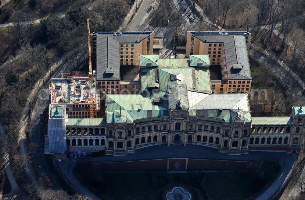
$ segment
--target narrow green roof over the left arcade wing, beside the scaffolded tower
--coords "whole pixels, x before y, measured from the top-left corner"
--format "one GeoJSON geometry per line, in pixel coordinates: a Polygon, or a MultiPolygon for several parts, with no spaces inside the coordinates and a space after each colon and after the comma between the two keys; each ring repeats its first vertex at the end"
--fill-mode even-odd
{"type": "Polygon", "coordinates": [[[69,118],[66,126],[104,126],[103,118],[69,118]]]}

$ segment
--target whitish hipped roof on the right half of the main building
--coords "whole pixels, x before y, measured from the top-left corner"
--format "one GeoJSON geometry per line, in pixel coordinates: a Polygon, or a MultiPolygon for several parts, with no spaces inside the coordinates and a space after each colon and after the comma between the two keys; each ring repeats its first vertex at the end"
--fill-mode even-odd
{"type": "Polygon", "coordinates": [[[248,94],[211,94],[192,106],[192,110],[239,109],[249,112],[248,94]]]}

